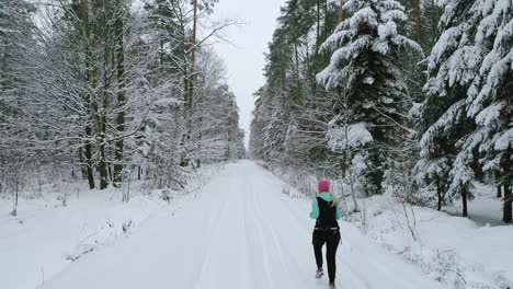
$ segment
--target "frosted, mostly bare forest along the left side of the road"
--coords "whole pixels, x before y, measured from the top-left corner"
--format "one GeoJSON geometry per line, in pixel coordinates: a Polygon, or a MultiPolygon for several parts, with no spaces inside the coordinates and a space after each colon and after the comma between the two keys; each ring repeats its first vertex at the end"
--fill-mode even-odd
{"type": "Polygon", "coordinates": [[[203,163],[244,158],[236,96],[205,45],[235,24],[209,21],[216,2],[2,0],[0,195],[127,176],[180,188],[203,163]]]}

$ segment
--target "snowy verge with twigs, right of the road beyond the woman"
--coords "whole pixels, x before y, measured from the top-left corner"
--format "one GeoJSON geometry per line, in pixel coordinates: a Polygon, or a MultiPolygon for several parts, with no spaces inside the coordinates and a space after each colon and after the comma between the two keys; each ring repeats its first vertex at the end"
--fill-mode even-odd
{"type": "MultiPolygon", "coordinates": [[[[479,201],[470,203],[469,210],[479,201]]],[[[403,207],[388,196],[375,196],[364,204],[365,213],[350,219],[369,238],[448,288],[512,287],[513,251],[509,241],[513,240],[513,227],[479,226],[447,212],[403,207]]]]}

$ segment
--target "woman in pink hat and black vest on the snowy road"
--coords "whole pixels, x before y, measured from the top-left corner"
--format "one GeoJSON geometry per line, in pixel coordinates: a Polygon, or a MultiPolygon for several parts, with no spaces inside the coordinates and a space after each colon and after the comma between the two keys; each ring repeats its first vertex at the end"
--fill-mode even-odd
{"type": "Polygon", "coordinates": [[[340,242],[340,227],[337,220],[340,219],[341,211],[337,200],[330,193],[330,182],[321,180],[319,182],[319,195],[314,199],[310,218],[316,219],[314,229],[314,253],[316,255],[317,274],[316,278],[321,278],[322,271],[322,245],[327,246],[326,261],[328,263],[328,277],[330,288],[334,288],[335,279],[335,255],[340,242]]]}

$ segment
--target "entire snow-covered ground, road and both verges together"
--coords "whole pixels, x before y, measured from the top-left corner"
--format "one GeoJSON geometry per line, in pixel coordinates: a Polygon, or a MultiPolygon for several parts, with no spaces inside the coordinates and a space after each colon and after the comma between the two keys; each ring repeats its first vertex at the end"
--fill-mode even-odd
{"type": "MultiPolygon", "coordinates": [[[[326,288],[326,278],[314,278],[310,199],[288,187],[241,161],[171,205],[148,196],[113,204],[99,192],[70,196],[66,208],[24,200],[20,217],[0,219],[0,288],[326,288]]],[[[512,227],[414,208],[414,241],[397,206],[386,197],[367,199],[364,223],[341,222],[339,288],[508,284],[512,227]]]]}

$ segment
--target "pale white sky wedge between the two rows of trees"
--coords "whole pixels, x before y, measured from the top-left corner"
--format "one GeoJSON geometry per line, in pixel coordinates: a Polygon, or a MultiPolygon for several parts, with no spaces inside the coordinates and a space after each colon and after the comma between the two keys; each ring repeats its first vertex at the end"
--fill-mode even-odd
{"type": "Polygon", "coordinates": [[[237,95],[240,108],[240,126],[249,141],[253,92],[265,82],[263,77],[264,53],[272,39],[280,8],[285,0],[219,0],[215,19],[231,19],[243,23],[227,28],[224,35],[230,43],[217,42],[214,49],[224,59],[228,84],[237,95]]]}

